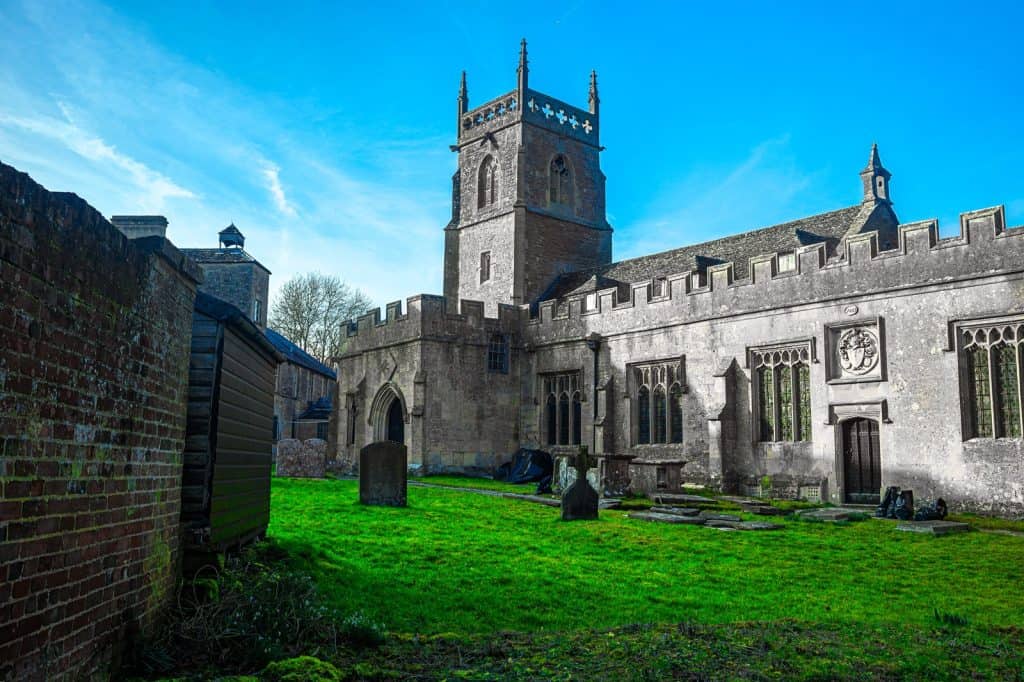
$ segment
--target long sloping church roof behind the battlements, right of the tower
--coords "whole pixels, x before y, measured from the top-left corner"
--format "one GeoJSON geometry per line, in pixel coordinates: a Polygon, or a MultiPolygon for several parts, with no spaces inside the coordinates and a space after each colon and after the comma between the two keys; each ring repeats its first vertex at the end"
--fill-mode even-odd
{"type": "Polygon", "coordinates": [[[796,251],[799,247],[822,242],[828,253],[833,254],[843,237],[851,230],[856,231],[866,218],[865,207],[857,204],[681,249],[566,272],[559,275],[538,300],[562,298],[614,286],[620,286],[625,294],[628,293],[628,285],[632,283],[692,270],[702,271],[711,265],[725,262],[732,262],[733,274],[738,280],[746,276],[750,259],[754,256],[796,251]]]}

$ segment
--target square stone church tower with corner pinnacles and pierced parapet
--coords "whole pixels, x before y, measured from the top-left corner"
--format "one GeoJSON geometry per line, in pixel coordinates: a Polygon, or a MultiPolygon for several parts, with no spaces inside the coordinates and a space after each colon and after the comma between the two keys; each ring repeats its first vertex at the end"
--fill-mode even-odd
{"type": "Polygon", "coordinates": [[[526,41],[514,90],[469,109],[458,98],[459,170],[444,228],[444,296],[535,303],[563,272],[611,261],[604,215],[597,75],[587,110],[532,90],[526,41]]]}

